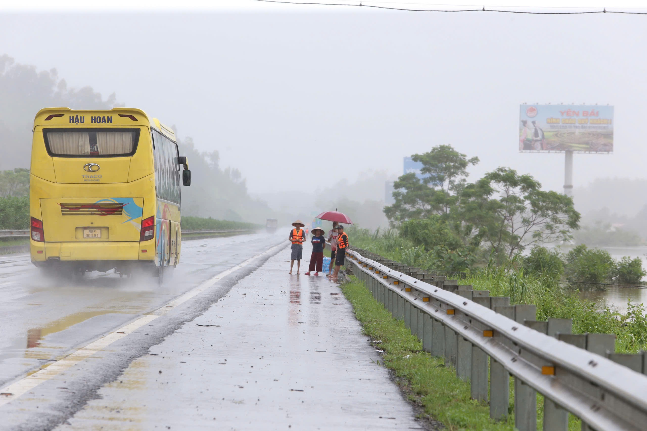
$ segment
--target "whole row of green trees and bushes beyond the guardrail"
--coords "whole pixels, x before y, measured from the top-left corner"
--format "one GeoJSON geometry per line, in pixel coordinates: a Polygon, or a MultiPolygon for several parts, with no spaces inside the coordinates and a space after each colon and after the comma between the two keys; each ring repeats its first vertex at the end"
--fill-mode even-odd
{"type": "Polygon", "coordinates": [[[615,261],[584,245],[567,254],[542,247],[571,241],[580,214],[571,197],[542,190],[531,175],[500,167],[468,182],[467,169],[479,159],[450,145],[411,159],[421,162],[421,175],[406,173],[395,181],[395,203],[384,214],[416,253],[426,254],[428,267],[460,272],[512,264],[590,283],[639,283],[646,275],[639,258],[615,261]]]}

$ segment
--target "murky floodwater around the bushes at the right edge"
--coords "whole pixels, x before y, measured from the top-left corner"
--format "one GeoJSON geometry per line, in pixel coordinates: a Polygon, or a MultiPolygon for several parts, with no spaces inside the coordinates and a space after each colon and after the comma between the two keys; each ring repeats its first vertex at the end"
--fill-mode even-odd
{"type": "MultiPolygon", "coordinates": [[[[647,268],[647,246],[641,245],[637,247],[597,247],[598,249],[607,250],[613,259],[619,260],[623,256],[630,258],[641,258],[642,268],[647,268]]],[[[569,252],[573,247],[560,247],[562,252],[569,252]]],[[[645,289],[633,287],[614,287],[607,286],[606,291],[587,291],[580,294],[580,298],[595,300],[597,302],[605,302],[608,305],[617,307],[622,311],[626,311],[627,302],[631,300],[635,304],[647,304],[647,287],[645,289]]]]}

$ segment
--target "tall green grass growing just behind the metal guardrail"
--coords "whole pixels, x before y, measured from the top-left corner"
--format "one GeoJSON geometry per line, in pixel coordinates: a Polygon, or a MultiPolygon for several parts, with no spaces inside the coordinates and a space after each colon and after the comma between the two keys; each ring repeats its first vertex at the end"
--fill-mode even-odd
{"type": "MultiPolygon", "coordinates": [[[[422,269],[434,269],[436,261],[421,247],[414,247],[400,238],[395,230],[369,232],[355,228],[349,231],[351,245],[422,269]]],[[[547,318],[573,319],[573,333],[615,334],[616,351],[636,353],[647,349],[647,318],[642,304],[628,303],[625,313],[606,305],[582,300],[578,291],[558,282],[547,271],[524,272],[514,258],[505,265],[490,259],[487,267],[466,274],[461,284],[477,290],[490,291],[490,296],[510,296],[511,304],[535,304],[537,320],[547,318]]]]}

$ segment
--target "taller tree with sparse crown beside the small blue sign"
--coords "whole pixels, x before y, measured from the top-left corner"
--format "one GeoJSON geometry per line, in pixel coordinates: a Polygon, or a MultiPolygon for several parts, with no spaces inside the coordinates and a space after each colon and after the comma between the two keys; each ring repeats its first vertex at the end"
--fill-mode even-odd
{"type": "Polygon", "coordinates": [[[467,159],[450,145],[435,146],[411,159],[421,162],[421,173],[428,176],[421,180],[414,173],[406,173],[393,183],[395,203],[384,208],[392,226],[408,219],[448,214],[465,186],[468,166],[479,162],[478,157],[467,159]]]}

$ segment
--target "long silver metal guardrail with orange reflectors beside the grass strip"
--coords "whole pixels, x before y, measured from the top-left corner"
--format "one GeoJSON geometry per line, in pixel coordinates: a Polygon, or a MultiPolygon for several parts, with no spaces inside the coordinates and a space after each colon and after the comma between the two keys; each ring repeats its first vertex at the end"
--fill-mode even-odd
{"type": "Polygon", "coordinates": [[[544,396],[545,431],[568,430],[569,412],[582,419],[583,431],[647,428],[645,352],[613,353],[615,335],[573,335],[569,319],[535,320],[534,305],[511,306],[509,298],[432,274],[413,277],[398,271],[410,267],[381,256],[355,250],[347,256],[347,270],[404,320],[425,351],[470,381],[472,398],[489,401],[493,419],[508,415],[512,375],[520,431],[536,430],[537,393],[544,396]]]}

